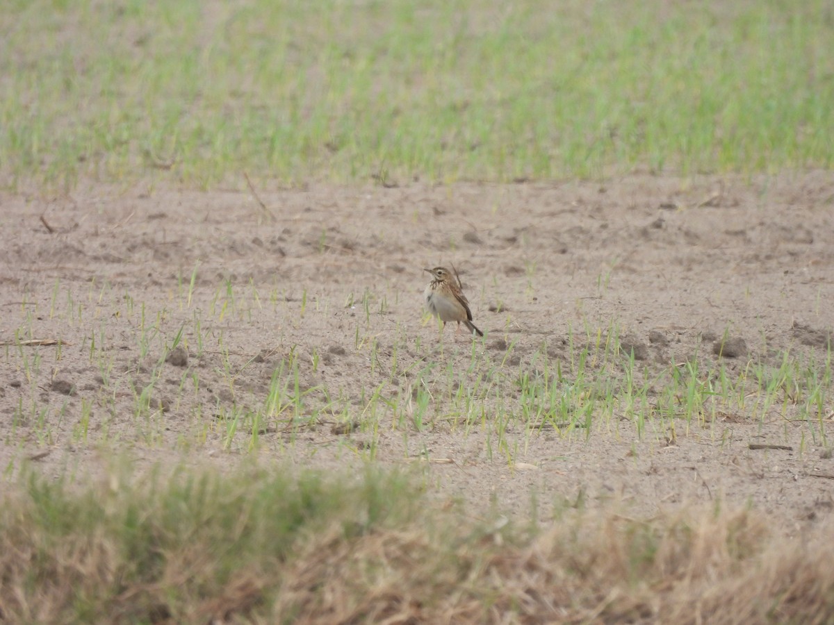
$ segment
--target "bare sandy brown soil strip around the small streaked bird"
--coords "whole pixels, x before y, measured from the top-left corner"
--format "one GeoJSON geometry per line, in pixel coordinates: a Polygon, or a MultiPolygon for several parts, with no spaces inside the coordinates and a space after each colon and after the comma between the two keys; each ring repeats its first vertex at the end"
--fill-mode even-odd
{"type": "MultiPolygon", "coordinates": [[[[267,210],[249,191],[147,185],[0,196],[0,340],[67,343],[3,348],[7,474],[29,462],[83,479],[114,451],[137,466],[234,467],[255,455],[342,473],[373,458],[416,468],[431,492],[475,511],[526,514],[535,498],[545,518],[553,503],[610,501],[651,515],[723,500],[751,503],[787,534],[827,522],[828,395],[816,423],[786,393],[766,408],[753,393],[701,423],[681,420],[674,436],[660,418],[640,436],[633,416],[615,412],[589,431],[531,433],[515,418],[503,443],[489,408],[512,413],[525,373],[559,366],[569,383],[572,345],[597,333],[619,333],[656,386],[671,363],[723,364],[737,381],[776,371],[785,351],[823,375],[834,328],[831,173],[259,197],[267,210]],[[460,271],[486,333],[475,359],[469,338],[450,327],[441,344],[425,318],[422,268],[438,264],[460,271]],[[188,358],[155,368],[180,328],[188,358]],[[713,345],[725,336],[733,350],[719,358],[713,345]],[[294,428],[287,412],[262,423],[249,453],[251,434],[229,436],[229,415],[263,407],[287,358],[298,363],[303,413],[294,428]],[[500,398],[483,401],[470,427],[450,418],[455,393],[487,378],[505,381],[500,398]],[[420,427],[400,420],[414,414],[419,388],[430,400],[420,427]],[[345,414],[376,428],[344,433],[345,414]]],[[[590,380],[624,370],[595,367],[590,380]]]]}

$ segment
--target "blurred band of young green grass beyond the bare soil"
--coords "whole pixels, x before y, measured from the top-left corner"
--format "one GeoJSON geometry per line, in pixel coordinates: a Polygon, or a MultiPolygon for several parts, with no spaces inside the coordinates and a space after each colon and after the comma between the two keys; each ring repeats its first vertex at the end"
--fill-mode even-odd
{"type": "Polygon", "coordinates": [[[831,42],[828,0],[7,0],[0,181],[830,168],[831,42]]]}

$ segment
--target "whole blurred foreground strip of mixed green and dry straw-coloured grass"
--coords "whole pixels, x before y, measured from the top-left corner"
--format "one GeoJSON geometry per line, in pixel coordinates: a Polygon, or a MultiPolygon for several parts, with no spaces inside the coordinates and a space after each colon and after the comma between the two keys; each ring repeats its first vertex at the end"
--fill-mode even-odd
{"type": "Polygon", "coordinates": [[[155,473],[0,508],[8,622],[826,622],[834,547],[756,512],[572,512],[528,533],[398,476],[155,473]]]}

